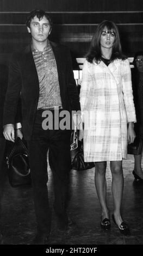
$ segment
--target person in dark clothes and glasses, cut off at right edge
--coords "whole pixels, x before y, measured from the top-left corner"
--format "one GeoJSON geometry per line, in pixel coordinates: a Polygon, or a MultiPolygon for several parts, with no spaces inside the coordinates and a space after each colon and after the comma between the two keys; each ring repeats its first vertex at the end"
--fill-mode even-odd
{"type": "MultiPolygon", "coordinates": [[[[143,139],[143,51],[136,52],[133,60],[133,93],[137,123],[135,124],[135,134],[143,139]]],[[[143,180],[141,168],[141,155],[134,155],[133,175],[135,180],[143,180]]]]}

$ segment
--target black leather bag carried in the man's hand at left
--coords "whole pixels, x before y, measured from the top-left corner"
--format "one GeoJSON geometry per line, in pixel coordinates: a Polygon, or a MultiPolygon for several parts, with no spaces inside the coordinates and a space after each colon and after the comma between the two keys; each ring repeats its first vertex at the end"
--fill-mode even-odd
{"type": "Polygon", "coordinates": [[[32,183],[29,168],[29,154],[26,145],[19,137],[7,155],[8,177],[11,187],[32,183]]]}

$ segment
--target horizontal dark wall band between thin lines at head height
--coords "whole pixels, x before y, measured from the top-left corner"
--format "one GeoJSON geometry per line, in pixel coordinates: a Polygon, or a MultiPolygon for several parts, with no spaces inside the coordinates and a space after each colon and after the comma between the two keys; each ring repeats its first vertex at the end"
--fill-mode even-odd
{"type": "MultiPolygon", "coordinates": [[[[116,24],[142,24],[143,23],[143,11],[133,11],[133,12],[67,12],[67,13],[50,13],[50,16],[55,25],[97,25],[103,20],[111,20],[116,24]]],[[[27,13],[0,13],[0,23],[1,25],[21,25],[25,24],[27,19],[27,13]]]]}

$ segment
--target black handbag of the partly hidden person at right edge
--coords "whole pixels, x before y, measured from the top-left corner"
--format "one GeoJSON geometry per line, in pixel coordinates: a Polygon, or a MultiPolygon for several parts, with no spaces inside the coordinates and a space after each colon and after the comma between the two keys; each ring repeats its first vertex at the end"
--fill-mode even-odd
{"type": "Polygon", "coordinates": [[[135,137],[134,142],[128,144],[127,153],[130,155],[140,155],[142,153],[142,141],[135,137]]]}

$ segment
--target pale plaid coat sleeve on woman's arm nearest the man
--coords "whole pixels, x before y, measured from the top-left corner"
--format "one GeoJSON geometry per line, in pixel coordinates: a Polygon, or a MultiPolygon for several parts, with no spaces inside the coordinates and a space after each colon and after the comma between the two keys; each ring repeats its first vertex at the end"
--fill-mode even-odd
{"type": "Polygon", "coordinates": [[[87,60],[85,60],[83,64],[82,82],[81,82],[80,95],[79,95],[83,122],[84,122],[84,110],[88,100],[88,92],[89,92],[88,62],[87,60]]]}

